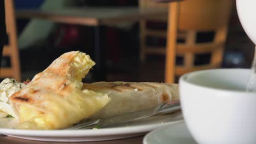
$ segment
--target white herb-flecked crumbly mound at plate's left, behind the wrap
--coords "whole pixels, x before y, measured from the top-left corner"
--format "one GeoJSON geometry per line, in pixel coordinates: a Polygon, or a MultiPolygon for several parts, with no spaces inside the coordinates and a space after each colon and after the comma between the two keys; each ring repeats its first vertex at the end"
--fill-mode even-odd
{"type": "Polygon", "coordinates": [[[9,97],[25,86],[25,83],[9,78],[4,79],[0,83],[0,118],[7,117],[8,115],[18,117],[10,105],[9,97]]]}

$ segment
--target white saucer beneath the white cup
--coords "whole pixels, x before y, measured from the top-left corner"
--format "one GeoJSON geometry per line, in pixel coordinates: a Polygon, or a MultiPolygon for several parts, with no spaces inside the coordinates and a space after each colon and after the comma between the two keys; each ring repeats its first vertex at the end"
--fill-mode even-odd
{"type": "Polygon", "coordinates": [[[148,133],[143,144],[196,144],[184,121],[166,125],[148,133]]]}

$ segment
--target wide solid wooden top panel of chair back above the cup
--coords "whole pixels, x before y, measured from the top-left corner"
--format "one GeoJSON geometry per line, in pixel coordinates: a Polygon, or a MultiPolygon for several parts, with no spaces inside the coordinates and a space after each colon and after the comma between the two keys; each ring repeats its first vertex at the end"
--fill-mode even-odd
{"type": "Polygon", "coordinates": [[[185,0],[179,4],[179,30],[211,31],[227,26],[233,0],[185,0]]]}

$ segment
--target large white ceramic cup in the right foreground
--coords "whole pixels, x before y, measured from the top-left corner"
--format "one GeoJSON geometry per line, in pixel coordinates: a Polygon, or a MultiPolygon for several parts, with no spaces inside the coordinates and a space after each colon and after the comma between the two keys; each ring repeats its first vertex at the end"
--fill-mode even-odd
{"type": "Polygon", "coordinates": [[[195,71],[179,79],[185,123],[198,143],[256,143],[256,93],[249,69],[195,71]]]}

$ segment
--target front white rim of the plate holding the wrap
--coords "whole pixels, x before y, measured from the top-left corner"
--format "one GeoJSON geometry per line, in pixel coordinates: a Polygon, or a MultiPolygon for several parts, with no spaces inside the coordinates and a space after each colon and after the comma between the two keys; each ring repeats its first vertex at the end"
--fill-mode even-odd
{"type": "Polygon", "coordinates": [[[151,131],[155,128],[164,127],[168,124],[175,124],[184,121],[178,119],[176,121],[158,123],[158,124],[145,124],[145,125],[134,125],[117,128],[102,128],[102,129],[82,129],[82,130],[22,130],[22,129],[10,129],[0,128],[0,134],[4,135],[19,135],[19,136],[38,136],[38,137],[63,137],[63,136],[112,136],[112,135],[124,135],[134,133],[144,133],[151,131]]]}

